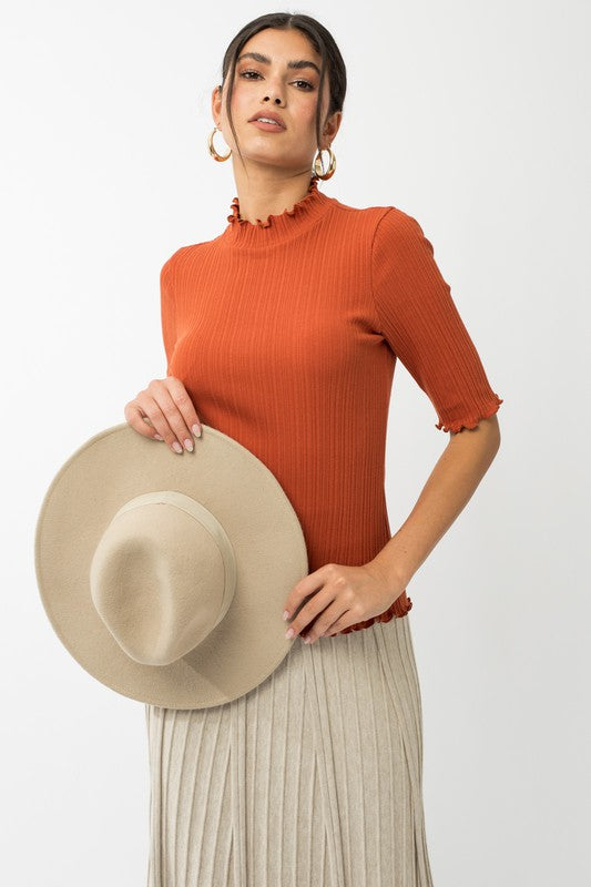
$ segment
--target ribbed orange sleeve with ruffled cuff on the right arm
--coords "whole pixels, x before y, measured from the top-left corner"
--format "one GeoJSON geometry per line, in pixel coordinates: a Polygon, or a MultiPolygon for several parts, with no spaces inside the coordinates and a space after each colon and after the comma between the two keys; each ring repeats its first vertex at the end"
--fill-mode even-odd
{"type": "Polygon", "coordinates": [[[497,412],[472,339],[434,256],[411,216],[389,207],[371,245],[371,283],[380,335],[431,400],[436,428],[460,431],[497,412]]]}

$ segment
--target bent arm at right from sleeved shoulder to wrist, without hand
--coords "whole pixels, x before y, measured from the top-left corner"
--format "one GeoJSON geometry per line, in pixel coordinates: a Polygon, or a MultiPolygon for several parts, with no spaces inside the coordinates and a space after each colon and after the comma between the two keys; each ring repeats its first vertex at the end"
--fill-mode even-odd
{"type": "Polygon", "coordinates": [[[492,390],[432,244],[416,218],[390,208],[373,244],[376,320],[383,335],[432,401],[437,428],[451,438],[418,500],[373,563],[410,581],[463,509],[500,446],[492,390]]]}

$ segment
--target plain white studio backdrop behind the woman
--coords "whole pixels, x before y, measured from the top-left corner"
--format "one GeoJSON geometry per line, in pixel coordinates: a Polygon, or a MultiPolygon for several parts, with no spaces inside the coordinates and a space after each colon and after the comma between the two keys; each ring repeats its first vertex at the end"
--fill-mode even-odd
{"type": "MultiPolygon", "coordinates": [[[[319,19],[347,64],[337,172],[320,188],[420,222],[505,399],[496,460],[408,589],[436,887],[591,883],[589,10],[288,8],[319,19]]],[[[165,375],[160,268],[226,225],[236,191],[231,163],[207,153],[210,96],[231,39],[269,11],[55,0],[2,12],[10,887],[145,884],[144,706],[61,645],[37,588],[34,528],[65,459],[165,375]]],[[[398,364],[393,532],[448,441],[436,420],[398,364]]]]}

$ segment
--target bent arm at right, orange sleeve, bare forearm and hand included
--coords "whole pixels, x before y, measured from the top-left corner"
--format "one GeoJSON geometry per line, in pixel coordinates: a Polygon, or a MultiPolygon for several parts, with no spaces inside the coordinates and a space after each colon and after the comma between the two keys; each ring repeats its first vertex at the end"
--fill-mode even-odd
{"type": "Polygon", "coordinates": [[[386,612],[465,508],[500,446],[496,414],[503,401],[489,384],[432,244],[396,207],[376,226],[371,294],[375,330],[430,398],[436,427],[451,438],[412,511],[373,560],[324,564],[291,590],[285,619],[298,612],[287,638],[302,633],[314,642],[386,612]]]}

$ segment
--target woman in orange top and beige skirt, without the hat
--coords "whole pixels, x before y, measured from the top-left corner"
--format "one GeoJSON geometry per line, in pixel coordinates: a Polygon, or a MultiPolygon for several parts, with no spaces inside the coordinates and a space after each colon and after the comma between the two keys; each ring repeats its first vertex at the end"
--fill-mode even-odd
{"type": "Polygon", "coordinates": [[[222,234],[163,266],[166,378],[125,407],[179,455],[201,422],[253,451],[310,568],[285,601],[296,642],[264,683],[212,708],[146,705],[150,887],[432,884],[406,587],[495,458],[502,400],[419,224],[318,190],[345,89],[307,16],[263,16],[232,41],[212,112],[238,196],[222,234]],[[450,440],[391,537],[397,357],[450,440]]]}

